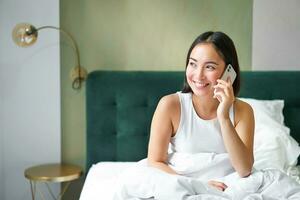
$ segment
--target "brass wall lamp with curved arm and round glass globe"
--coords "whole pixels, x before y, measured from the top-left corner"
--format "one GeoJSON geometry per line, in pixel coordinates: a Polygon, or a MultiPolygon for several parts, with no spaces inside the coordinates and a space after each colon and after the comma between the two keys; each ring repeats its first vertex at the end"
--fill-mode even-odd
{"type": "Polygon", "coordinates": [[[65,36],[67,36],[72,42],[72,46],[73,49],[75,50],[75,56],[76,56],[76,66],[71,70],[70,73],[70,77],[72,80],[72,88],[75,90],[81,89],[82,82],[86,79],[87,71],[80,64],[78,45],[70,33],[55,26],[42,26],[36,28],[33,25],[28,23],[20,23],[17,24],[12,31],[13,41],[20,47],[31,46],[36,42],[38,38],[38,32],[43,29],[58,30],[61,33],[63,33],[65,36]]]}

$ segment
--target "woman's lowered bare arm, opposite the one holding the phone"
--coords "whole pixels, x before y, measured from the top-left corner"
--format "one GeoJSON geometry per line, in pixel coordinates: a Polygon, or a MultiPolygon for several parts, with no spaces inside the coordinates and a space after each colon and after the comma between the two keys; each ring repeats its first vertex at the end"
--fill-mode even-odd
{"type": "Polygon", "coordinates": [[[180,104],[176,94],[163,97],[154,112],[148,146],[148,165],[170,174],[176,172],[167,163],[168,146],[180,116],[180,104]]]}

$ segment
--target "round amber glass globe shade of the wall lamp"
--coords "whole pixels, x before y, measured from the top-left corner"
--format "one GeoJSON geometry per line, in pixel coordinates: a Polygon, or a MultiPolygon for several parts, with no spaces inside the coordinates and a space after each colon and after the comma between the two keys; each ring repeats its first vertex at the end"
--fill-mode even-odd
{"type": "Polygon", "coordinates": [[[28,47],[37,40],[37,29],[27,23],[17,24],[12,31],[12,38],[14,42],[20,47],[28,47]]]}

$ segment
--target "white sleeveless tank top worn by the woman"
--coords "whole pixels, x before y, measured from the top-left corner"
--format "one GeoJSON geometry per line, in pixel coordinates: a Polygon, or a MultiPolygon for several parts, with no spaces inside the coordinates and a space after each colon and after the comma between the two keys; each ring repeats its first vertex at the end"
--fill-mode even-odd
{"type": "MultiPolygon", "coordinates": [[[[201,119],[193,106],[192,94],[177,92],[180,100],[181,115],[177,132],[171,138],[169,150],[179,153],[227,153],[220,124],[217,118],[201,119]]],[[[234,122],[231,106],[230,120],[234,122]]],[[[234,123],[233,123],[234,124],[234,123]]]]}

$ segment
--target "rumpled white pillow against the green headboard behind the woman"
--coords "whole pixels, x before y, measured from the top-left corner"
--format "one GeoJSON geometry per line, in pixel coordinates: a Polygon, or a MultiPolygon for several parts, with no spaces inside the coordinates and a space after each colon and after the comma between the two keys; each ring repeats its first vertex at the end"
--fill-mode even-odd
{"type": "Polygon", "coordinates": [[[300,147],[284,125],[284,101],[239,99],[250,104],[254,111],[254,168],[287,172],[289,166],[297,164],[300,147]]]}

